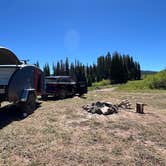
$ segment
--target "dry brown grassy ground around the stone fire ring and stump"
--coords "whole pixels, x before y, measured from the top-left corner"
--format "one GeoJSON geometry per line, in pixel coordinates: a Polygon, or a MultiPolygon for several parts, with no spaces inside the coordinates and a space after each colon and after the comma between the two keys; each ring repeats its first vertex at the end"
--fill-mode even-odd
{"type": "Polygon", "coordinates": [[[97,90],[84,98],[42,102],[25,119],[15,106],[0,109],[0,165],[166,165],[166,92],[97,90]],[[97,115],[95,101],[128,99],[132,109],[97,115]],[[145,114],[135,113],[146,103],[145,114]]]}

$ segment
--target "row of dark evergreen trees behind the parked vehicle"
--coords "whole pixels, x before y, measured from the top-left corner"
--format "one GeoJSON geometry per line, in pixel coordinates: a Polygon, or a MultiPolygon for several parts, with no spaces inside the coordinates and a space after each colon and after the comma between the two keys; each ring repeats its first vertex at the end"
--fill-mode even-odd
{"type": "MultiPolygon", "coordinates": [[[[39,63],[37,62],[37,66],[39,63]]],[[[50,75],[70,75],[77,81],[87,81],[88,86],[93,82],[99,82],[103,79],[111,80],[112,84],[126,83],[128,80],[140,80],[141,68],[139,62],[134,61],[130,55],[121,55],[110,52],[105,56],[99,56],[96,64],[84,65],[79,61],[69,63],[69,59],[60,60],[50,66],[46,63],[43,66],[43,71],[46,76],[50,75]]]]}

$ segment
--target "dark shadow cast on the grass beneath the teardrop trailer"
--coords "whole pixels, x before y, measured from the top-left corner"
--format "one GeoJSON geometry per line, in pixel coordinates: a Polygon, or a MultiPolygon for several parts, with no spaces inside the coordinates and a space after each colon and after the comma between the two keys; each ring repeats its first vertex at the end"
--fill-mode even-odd
{"type": "MultiPolygon", "coordinates": [[[[40,107],[41,103],[37,103],[36,109],[40,107]]],[[[23,112],[17,105],[10,104],[0,108],[0,129],[6,127],[13,121],[20,121],[25,119],[23,112]]]]}

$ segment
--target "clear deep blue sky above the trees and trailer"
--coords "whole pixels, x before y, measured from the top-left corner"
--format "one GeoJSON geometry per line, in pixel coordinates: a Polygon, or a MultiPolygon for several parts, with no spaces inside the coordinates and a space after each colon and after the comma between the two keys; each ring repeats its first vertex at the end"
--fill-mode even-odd
{"type": "Polygon", "coordinates": [[[0,45],[42,67],[93,64],[109,51],[166,68],[165,0],[0,0],[0,45]]]}

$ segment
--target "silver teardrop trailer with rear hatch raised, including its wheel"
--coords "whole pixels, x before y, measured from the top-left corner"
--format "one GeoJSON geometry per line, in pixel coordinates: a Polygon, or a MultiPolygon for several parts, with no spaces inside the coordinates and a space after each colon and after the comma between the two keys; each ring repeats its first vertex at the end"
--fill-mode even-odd
{"type": "Polygon", "coordinates": [[[0,47],[0,103],[19,104],[23,112],[30,114],[36,107],[36,96],[43,90],[43,72],[19,61],[9,49],[0,47]]]}

